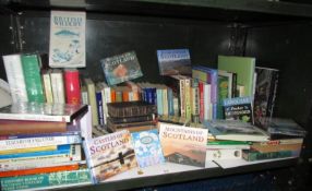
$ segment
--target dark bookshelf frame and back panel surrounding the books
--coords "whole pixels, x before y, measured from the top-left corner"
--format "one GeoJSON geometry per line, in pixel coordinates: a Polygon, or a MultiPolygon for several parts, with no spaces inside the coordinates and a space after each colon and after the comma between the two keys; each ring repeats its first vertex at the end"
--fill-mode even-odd
{"type": "MultiPolygon", "coordinates": [[[[163,81],[158,72],[155,72],[158,71],[157,49],[189,48],[193,63],[212,68],[216,68],[217,55],[253,56],[260,67],[272,67],[281,71],[276,115],[295,118],[311,132],[312,4],[309,1],[295,3],[281,0],[3,0],[0,1],[1,55],[37,50],[48,52],[51,9],[87,12],[87,67],[80,69],[84,76],[92,76],[95,81],[103,80],[99,60],[130,50],[136,51],[144,80],[149,82],[163,81]]],[[[2,60],[0,76],[5,79],[2,60]]],[[[307,147],[311,148],[311,141],[307,142],[307,147]]],[[[301,165],[307,165],[311,169],[309,158],[311,160],[311,152],[303,151],[301,165]]],[[[278,164],[268,165],[265,169],[288,167],[296,163],[286,166],[278,164]]],[[[219,177],[260,169],[254,168],[226,171],[216,169],[217,172],[213,175],[219,177]]],[[[122,187],[120,182],[111,182],[92,186],[88,189],[127,189],[131,188],[132,183],[140,182],[148,187],[213,177],[203,174],[205,171],[192,179],[187,177],[193,177],[193,174],[178,175],[177,180],[172,180],[177,176],[168,175],[169,178],[156,177],[155,183],[146,178],[128,180],[121,184],[122,187]],[[167,178],[172,181],[166,182],[167,178]]],[[[288,178],[284,176],[286,181],[288,178]]]]}

